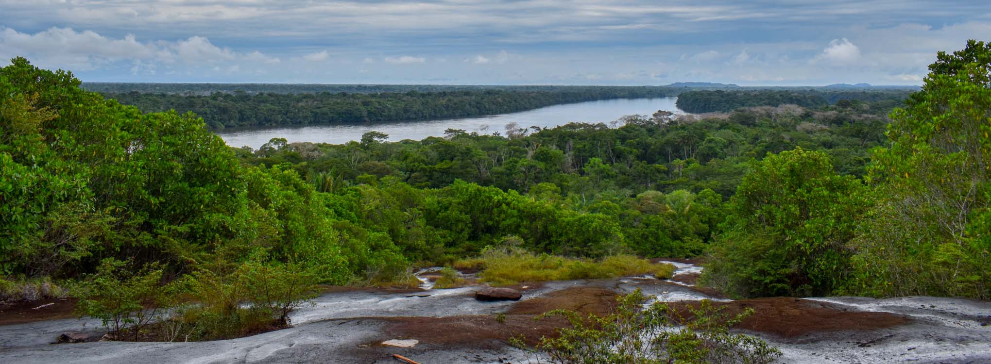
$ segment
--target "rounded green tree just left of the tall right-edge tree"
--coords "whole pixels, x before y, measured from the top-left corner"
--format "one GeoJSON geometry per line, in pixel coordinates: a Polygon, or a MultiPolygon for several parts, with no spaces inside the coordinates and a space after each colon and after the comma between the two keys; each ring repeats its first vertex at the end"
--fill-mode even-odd
{"type": "Polygon", "coordinates": [[[796,148],[754,164],[730,199],[704,281],[737,297],[828,295],[850,271],[848,247],[867,189],[796,148]]]}

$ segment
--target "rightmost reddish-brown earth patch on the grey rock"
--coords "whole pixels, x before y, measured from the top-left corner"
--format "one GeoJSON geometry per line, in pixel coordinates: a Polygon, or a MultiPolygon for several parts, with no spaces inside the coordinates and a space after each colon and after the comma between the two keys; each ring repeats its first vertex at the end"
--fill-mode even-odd
{"type": "MultiPolygon", "coordinates": [[[[698,304],[669,304],[682,315],[690,316],[685,310],[687,305],[698,304]]],[[[754,314],[744,318],[736,328],[788,338],[829,331],[869,331],[910,320],[894,314],[849,311],[838,305],[791,297],[717,302],[713,305],[725,308],[723,312],[729,315],[737,315],[746,308],[751,308],[754,314]]]]}

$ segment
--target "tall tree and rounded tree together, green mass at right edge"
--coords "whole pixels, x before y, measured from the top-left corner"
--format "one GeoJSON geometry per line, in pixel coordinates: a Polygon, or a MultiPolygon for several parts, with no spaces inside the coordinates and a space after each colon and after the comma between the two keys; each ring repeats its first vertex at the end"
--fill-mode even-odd
{"type": "Polygon", "coordinates": [[[862,179],[826,153],[754,163],[703,282],[739,297],[991,298],[991,45],[939,52],[862,179]]]}

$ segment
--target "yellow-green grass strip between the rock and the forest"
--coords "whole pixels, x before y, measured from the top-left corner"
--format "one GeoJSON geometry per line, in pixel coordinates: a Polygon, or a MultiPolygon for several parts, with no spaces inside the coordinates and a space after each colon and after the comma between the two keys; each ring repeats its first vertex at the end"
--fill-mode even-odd
{"type": "Polygon", "coordinates": [[[614,255],[600,261],[573,259],[549,254],[533,254],[519,249],[491,249],[477,259],[459,261],[455,267],[484,267],[481,281],[494,286],[521,282],[544,282],[574,279],[609,279],[624,276],[652,275],[671,278],[675,267],[654,264],[632,255],[614,255]]]}

